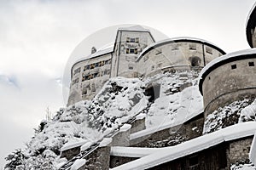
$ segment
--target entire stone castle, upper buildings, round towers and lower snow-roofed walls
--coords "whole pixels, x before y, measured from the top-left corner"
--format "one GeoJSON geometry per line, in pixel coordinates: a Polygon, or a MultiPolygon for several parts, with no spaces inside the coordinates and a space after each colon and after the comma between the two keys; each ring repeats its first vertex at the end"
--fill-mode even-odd
{"type": "Polygon", "coordinates": [[[69,161],[60,169],[69,169],[79,159],[87,160],[81,170],[238,169],[236,165],[250,164],[256,113],[247,110],[256,99],[255,20],[254,6],[246,30],[252,49],[231,54],[191,37],[154,42],[141,26],[119,28],[113,46],[92,48],[89,57],[72,67],[67,105],[92,99],[111,77],[143,79],[160,72],[201,71],[198,87],[204,111],[177,124],[148,129],[145,117],[137,116],[85,152],[80,143],[61,150],[69,161]]]}

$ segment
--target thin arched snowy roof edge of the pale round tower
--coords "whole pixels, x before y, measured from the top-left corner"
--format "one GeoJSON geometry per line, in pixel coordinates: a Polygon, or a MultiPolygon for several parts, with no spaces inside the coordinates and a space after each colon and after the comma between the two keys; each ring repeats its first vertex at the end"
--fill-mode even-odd
{"type": "Polygon", "coordinates": [[[161,45],[165,45],[167,43],[173,43],[173,42],[199,42],[199,43],[203,43],[212,48],[217,49],[221,54],[226,54],[224,52],[224,50],[222,50],[221,48],[218,48],[218,46],[216,46],[212,42],[208,42],[207,40],[203,40],[203,39],[196,38],[196,37],[173,37],[173,38],[167,38],[165,40],[161,40],[159,42],[154,42],[154,43],[148,45],[148,47],[144,48],[143,52],[141,54],[139,54],[137,61],[139,61],[143,57],[143,55],[148,53],[148,51],[150,51],[152,48],[157,48],[161,45]]]}

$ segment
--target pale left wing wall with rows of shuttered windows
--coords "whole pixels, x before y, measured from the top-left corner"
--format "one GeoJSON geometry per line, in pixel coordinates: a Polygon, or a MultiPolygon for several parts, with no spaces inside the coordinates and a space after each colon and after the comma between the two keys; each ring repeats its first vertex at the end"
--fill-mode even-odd
{"type": "Polygon", "coordinates": [[[105,54],[73,65],[67,105],[96,95],[110,77],[111,58],[111,54],[105,54]]]}

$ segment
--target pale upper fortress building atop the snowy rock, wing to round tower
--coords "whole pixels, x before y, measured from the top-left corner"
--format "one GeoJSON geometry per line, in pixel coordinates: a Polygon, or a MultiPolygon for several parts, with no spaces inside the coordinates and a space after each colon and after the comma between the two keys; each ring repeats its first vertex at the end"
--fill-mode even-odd
{"type": "Polygon", "coordinates": [[[142,26],[119,28],[108,47],[91,49],[71,70],[67,105],[92,99],[110,77],[148,77],[160,71],[201,70],[225,52],[205,40],[178,37],[154,42],[142,26]]]}

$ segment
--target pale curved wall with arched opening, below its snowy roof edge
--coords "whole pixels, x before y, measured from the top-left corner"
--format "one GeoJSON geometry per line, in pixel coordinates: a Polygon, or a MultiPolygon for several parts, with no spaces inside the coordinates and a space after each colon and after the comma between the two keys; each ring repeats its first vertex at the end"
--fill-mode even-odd
{"type": "Polygon", "coordinates": [[[143,54],[137,69],[140,77],[149,77],[166,67],[204,67],[221,55],[215,48],[199,42],[169,42],[143,54]]]}

